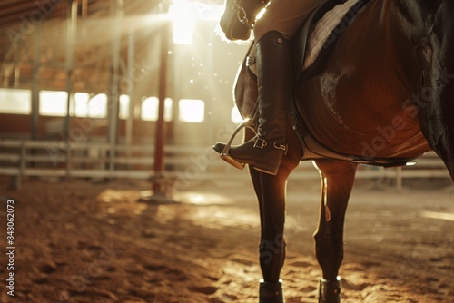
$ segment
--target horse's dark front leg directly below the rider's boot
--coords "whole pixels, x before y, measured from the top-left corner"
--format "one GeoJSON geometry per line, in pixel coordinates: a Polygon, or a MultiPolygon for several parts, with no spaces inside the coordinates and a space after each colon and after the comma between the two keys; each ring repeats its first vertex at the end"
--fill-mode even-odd
{"type": "Polygon", "coordinates": [[[282,303],[281,269],[285,259],[285,192],[286,181],[299,159],[284,157],[276,176],[250,169],[254,190],[259,200],[261,217],[260,303],[282,303]]]}

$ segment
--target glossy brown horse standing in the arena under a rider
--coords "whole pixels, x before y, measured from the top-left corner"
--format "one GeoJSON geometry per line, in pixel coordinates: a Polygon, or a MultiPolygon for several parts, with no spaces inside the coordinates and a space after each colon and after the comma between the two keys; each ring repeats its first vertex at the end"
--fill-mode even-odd
{"type": "MultiPolygon", "coordinates": [[[[281,281],[285,259],[286,181],[301,160],[313,161],[320,171],[320,219],[313,234],[322,273],[319,303],[341,302],[344,218],[360,164],[402,165],[434,151],[454,181],[454,2],[358,4],[354,17],[336,26],[310,66],[301,64],[305,40],[293,38],[298,52],[288,151],[277,175],[249,169],[261,215],[262,280],[273,285],[281,281]]],[[[249,36],[244,34],[247,9],[242,5],[241,0],[226,0],[220,22],[224,33],[241,29],[242,36],[249,36]]],[[[252,53],[253,43],[233,90],[243,118],[252,121],[245,141],[257,123],[252,53]]],[[[281,303],[283,298],[265,302],[281,303]]]]}

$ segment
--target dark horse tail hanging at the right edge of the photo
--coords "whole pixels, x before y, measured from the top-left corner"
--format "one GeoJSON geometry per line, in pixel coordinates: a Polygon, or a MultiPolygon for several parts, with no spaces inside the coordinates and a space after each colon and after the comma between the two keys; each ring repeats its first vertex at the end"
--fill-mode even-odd
{"type": "Polygon", "coordinates": [[[442,1],[425,52],[427,68],[417,96],[419,120],[430,147],[454,180],[454,2],[442,1]],[[429,53],[428,53],[429,51],[429,53]]]}

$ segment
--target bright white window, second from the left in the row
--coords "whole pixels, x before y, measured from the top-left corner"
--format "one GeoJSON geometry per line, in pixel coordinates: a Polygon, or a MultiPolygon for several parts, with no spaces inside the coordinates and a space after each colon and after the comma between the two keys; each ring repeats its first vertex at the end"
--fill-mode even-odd
{"type": "Polygon", "coordinates": [[[67,114],[68,93],[57,91],[39,92],[39,113],[63,117],[67,114]]]}

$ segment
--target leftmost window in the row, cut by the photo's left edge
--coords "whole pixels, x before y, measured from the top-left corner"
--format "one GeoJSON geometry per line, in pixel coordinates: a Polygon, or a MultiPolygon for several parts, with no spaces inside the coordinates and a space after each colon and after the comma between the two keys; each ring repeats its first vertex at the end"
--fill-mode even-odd
{"type": "Polygon", "coordinates": [[[32,92],[0,88],[0,112],[30,114],[32,112],[32,92]]]}

